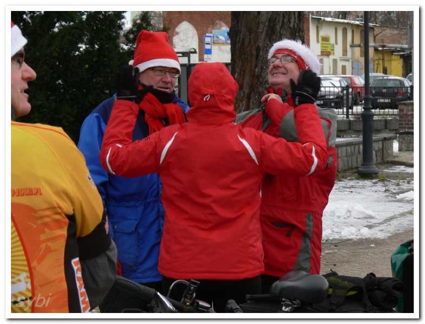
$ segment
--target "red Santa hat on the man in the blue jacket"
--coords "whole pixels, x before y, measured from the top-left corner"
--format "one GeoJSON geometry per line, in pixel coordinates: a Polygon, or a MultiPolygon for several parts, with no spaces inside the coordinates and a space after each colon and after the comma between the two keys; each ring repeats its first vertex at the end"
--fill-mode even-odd
{"type": "Polygon", "coordinates": [[[137,36],[133,66],[142,72],[154,66],[165,66],[180,71],[179,58],[168,42],[165,31],[142,30],[137,36]]]}

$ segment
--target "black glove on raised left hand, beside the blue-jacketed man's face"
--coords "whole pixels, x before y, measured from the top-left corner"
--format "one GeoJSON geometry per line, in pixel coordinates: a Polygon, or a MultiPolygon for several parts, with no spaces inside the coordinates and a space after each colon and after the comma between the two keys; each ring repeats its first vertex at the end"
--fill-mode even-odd
{"type": "Polygon", "coordinates": [[[139,103],[142,98],[139,96],[139,69],[132,65],[125,65],[117,73],[115,78],[115,88],[117,89],[117,99],[134,101],[139,103]]]}

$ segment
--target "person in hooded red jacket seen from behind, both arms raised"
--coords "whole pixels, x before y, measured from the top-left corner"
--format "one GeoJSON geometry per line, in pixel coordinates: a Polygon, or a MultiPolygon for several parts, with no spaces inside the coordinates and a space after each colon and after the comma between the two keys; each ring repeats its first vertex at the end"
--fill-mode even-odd
{"type": "MultiPolygon", "coordinates": [[[[110,173],[159,172],[165,208],[159,270],[164,292],[177,279],[201,282],[197,298],[223,312],[261,292],[264,270],[259,208],[265,172],[305,176],[327,161],[321,123],[312,104],[320,88],[313,72],[294,88],[300,143],[288,143],[234,124],[237,84],[222,63],[200,63],[189,79],[188,122],[132,142],[140,102],[156,100],[137,91],[137,70],[122,70],[117,100],[100,160],[110,173]],[[133,98],[132,95],[133,94],[133,98]]],[[[270,101],[276,101],[271,98],[270,101]]]]}

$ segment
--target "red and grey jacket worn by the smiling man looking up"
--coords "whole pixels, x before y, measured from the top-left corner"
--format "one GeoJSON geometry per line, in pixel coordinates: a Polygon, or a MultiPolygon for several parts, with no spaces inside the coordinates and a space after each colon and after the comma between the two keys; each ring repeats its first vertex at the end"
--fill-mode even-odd
{"type": "MultiPolygon", "coordinates": [[[[244,129],[263,130],[265,134],[298,142],[298,124],[294,124],[297,109],[288,95],[287,102],[270,100],[265,112],[246,111],[237,119],[244,129]]],[[[316,138],[326,138],[326,168],[306,177],[267,174],[263,181],[260,222],[266,275],[281,277],[292,270],[320,273],[322,213],[335,183],[338,159],[336,113],[327,108],[316,110],[322,128],[311,131],[316,132],[316,138]]]]}

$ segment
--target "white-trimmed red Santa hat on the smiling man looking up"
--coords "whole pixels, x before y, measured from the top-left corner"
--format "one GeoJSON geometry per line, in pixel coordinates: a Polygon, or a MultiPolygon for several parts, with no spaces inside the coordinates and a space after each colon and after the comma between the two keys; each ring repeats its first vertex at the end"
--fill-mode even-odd
{"type": "Polygon", "coordinates": [[[268,51],[268,59],[276,54],[288,54],[297,60],[300,70],[312,70],[316,74],[320,74],[320,62],[317,55],[302,44],[300,40],[282,39],[271,46],[268,51]]]}

